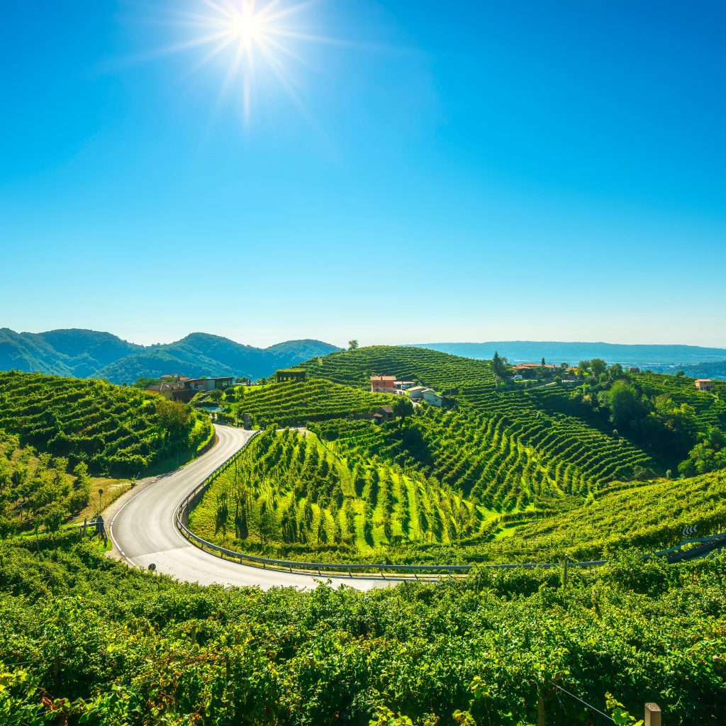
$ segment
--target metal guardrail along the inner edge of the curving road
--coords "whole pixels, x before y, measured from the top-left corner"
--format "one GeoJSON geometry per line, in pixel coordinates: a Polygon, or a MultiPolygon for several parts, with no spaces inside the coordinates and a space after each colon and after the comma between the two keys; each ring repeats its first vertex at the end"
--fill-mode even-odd
{"type": "MultiPolygon", "coordinates": [[[[253,434],[254,435],[254,434],[253,434]]],[[[245,445],[252,440],[248,439],[245,445]]],[[[383,574],[384,571],[388,572],[408,572],[415,574],[417,572],[428,571],[433,574],[441,572],[470,572],[476,568],[489,568],[489,569],[534,569],[534,568],[560,568],[563,566],[562,562],[527,562],[527,563],[492,563],[492,564],[478,564],[478,565],[393,565],[388,563],[335,563],[335,562],[299,562],[296,560],[275,560],[272,558],[259,557],[258,555],[247,555],[245,552],[236,552],[234,550],[227,550],[226,547],[220,547],[219,544],[208,542],[202,537],[198,537],[187,527],[189,510],[192,509],[199,499],[202,497],[204,492],[212,484],[212,482],[219,477],[221,473],[226,471],[242,454],[244,447],[240,451],[232,454],[227,461],[223,462],[219,468],[216,468],[205,480],[195,486],[184,499],[179,502],[179,506],[176,507],[176,515],[174,521],[176,522],[177,529],[181,532],[182,536],[186,537],[192,544],[196,544],[200,549],[208,549],[213,552],[219,552],[222,558],[225,555],[230,560],[238,560],[240,564],[248,563],[250,565],[262,566],[263,568],[271,568],[285,571],[304,571],[304,572],[317,572],[322,574],[323,571],[348,571],[351,574],[353,571],[363,572],[364,574],[370,574],[370,571],[377,571],[383,574]]],[[[698,537],[697,539],[688,539],[685,542],[669,547],[667,550],[659,550],[658,552],[652,552],[649,555],[643,555],[643,560],[647,561],[653,557],[666,557],[669,561],[679,561],[685,559],[689,552],[695,550],[703,550],[708,552],[718,546],[718,540],[723,540],[724,546],[726,547],[726,532],[719,532],[719,534],[712,534],[710,537],[698,537]],[[685,544],[696,544],[700,543],[701,547],[694,548],[694,550],[686,550],[681,555],[681,548],[685,544]],[[711,546],[714,545],[714,546],[711,546]]],[[[567,561],[567,567],[600,567],[608,564],[611,560],[587,560],[585,562],[570,562],[567,561]]]]}

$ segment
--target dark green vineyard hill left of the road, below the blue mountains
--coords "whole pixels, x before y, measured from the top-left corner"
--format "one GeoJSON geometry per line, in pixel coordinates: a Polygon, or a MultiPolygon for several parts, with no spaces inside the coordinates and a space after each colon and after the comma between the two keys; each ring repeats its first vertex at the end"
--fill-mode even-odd
{"type": "Polygon", "coordinates": [[[193,455],[211,424],[184,404],[100,380],[0,372],[0,430],[101,472],[143,473],[193,455]]]}

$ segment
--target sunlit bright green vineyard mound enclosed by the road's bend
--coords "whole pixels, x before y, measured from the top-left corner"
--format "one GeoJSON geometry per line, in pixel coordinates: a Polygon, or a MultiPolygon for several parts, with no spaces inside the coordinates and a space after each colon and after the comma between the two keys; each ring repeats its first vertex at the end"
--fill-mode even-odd
{"type": "Polygon", "coordinates": [[[315,436],[270,429],[213,482],[189,527],[275,558],[376,562],[410,557],[412,547],[466,542],[488,518],[435,480],[348,461],[315,436]]]}

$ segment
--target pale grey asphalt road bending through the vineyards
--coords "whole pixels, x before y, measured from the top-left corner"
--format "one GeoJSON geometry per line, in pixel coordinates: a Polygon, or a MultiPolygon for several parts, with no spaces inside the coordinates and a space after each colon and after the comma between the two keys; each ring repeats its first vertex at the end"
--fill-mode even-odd
{"type": "MultiPolygon", "coordinates": [[[[184,468],[158,477],[144,489],[131,489],[118,502],[109,526],[116,549],[132,567],[147,569],[154,563],[158,572],[204,585],[258,586],[263,590],[280,586],[305,589],[315,587],[321,579],[329,579],[222,560],[203,552],[179,534],[174,514],[181,499],[241,449],[253,434],[229,426],[215,428],[219,442],[206,454],[184,468]]],[[[330,580],[333,587],[346,584],[358,590],[388,587],[397,582],[380,577],[331,577],[330,580]]]]}

